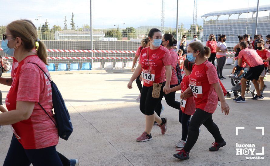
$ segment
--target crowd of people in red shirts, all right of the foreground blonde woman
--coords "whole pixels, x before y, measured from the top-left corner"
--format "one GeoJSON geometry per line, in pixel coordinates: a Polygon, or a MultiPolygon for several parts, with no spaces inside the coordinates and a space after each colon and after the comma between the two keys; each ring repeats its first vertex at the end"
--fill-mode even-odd
{"type": "MultiPolygon", "coordinates": [[[[265,77],[270,60],[269,41],[270,35],[266,36],[267,42],[259,39],[259,35],[251,37],[248,34],[238,36],[239,43],[233,48],[235,51],[235,67],[231,77],[241,78],[241,96],[234,99],[236,102],[245,102],[245,82],[251,80],[257,91],[257,95],[252,99],[262,99],[265,77]],[[256,50],[255,50],[256,48],[256,50]],[[248,72],[244,73],[244,68],[248,66],[248,72]],[[235,74],[239,71],[239,74],[235,74]]],[[[133,75],[127,85],[132,88],[135,79],[140,90],[140,110],[145,115],[146,126],[143,133],[136,139],[138,142],[145,142],[152,139],[151,130],[154,122],[157,122],[164,135],[167,131],[167,118],[158,114],[161,108],[161,100],[165,96],[166,103],[179,110],[179,122],[182,125],[182,138],[175,145],[178,153],[175,158],[185,160],[189,158],[191,148],[195,145],[203,124],[214,137],[213,146],[209,151],[218,151],[226,145],[221,136],[218,126],[213,122],[212,114],[217,108],[218,101],[221,102],[221,111],[225,115],[229,113],[229,106],[225,101],[227,91],[223,87],[221,80],[223,67],[226,62],[227,45],[226,35],[221,35],[216,41],[215,35],[210,34],[209,40],[204,46],[197,35],[194,40],[187,41],[187,36],[183,35],[178,43],[179,50],[174,51],[173,46],[177,41],[171,34],[164,34],[158,29],[151,29],[148,38],[142,40],[147,42],[142,44],[136,53],[132,72],[133,75]],[[139,64],[134,69],[134,65],[139,58],[139,64]],[[217,67],[215,67],[215,59],[217,67]],[[181,82],[177,82],[176,63],[180,66],[180,72],[185,73],[181,82]],[[143,86],[141,85],[143,81],[143,86]],[[181,100],[175,101],[175,92],[181,91],[181,100]],[[158,94],[158,95],[156,95],[158,94]],[[192,116],[192,117],[191,117],[192,116]]],[[[179,72],[179,71],[178,71],[179,72]]],[[[137,99],[138,100],[138,99],[137,99]]]]}

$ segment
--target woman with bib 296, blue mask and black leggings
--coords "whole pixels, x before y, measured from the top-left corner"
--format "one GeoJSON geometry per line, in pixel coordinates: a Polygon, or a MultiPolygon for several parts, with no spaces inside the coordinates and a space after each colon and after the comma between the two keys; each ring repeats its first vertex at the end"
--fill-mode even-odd
{"type": "Polygon", "coordinates": [[[216,69],[212,63],[207,60],[210,54],[210,48],[204,47],[200,42],[190,43],[187,47],[187,59],[195,62],[192,72],[189,76],[189,88],[181,93],[181,99],[194,96],[196,111],[191,118],[188,128],[188,138],[184,147],[175,158],[185,160],[189,158],[189,152],[195,145],[199,128],[203,124],[215,139],[210,151],[217,151],[226,145],[222,138],[218,126],[213,122],[212,114],[217,108],[218,98],[221,102],[221,112],[225,115],[229,113],[229,106],[225,101],[224,94],[218,79],[216,69]]]}

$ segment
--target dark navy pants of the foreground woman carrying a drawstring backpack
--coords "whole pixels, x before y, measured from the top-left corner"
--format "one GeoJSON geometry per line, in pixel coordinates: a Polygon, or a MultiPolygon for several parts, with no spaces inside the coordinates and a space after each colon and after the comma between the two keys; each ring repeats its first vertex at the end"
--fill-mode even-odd
{"type": "Polygon", "coordinates": [[[55,147],[56,146],[41,149],[24,149],[22,144],[13,135],[8,149],[8,154],[3,165],[29,166],[32,163],[34,166],[61,166],[63,164],[55,147]]]}

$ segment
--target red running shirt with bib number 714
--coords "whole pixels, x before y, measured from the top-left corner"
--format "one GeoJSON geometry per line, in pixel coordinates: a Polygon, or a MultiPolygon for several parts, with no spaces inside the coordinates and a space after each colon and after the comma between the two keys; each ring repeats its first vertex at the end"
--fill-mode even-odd
{"type": "Polygon", "coordinates": [[[165,66],[171,65],[172,60],[169,50],[164,46],[160,46],[157,49],[145,47],[141,50],[139,64],[142,65],[143,86],[149,87],[153,85],[153,81],[154,83],[165,81],[165,66]],[[147,59],[147,50],[149,52],[149,60],[147,59]],[[150,77],[150,74],[152,77],[150,77]]]}

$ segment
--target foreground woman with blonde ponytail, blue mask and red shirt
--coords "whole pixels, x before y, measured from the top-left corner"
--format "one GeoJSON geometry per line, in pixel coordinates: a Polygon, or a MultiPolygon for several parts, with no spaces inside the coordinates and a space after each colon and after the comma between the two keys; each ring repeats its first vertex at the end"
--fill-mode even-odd
{"type": "Polygon", "coordinates": [[[8,111],[0,114],[0,125],[11,125],[14,132],[4,165],[62,165],[56,152],[58,130],[38,104],[53,119],[50,78],[32,64],[48,72],[46,46],[37,37],[35,27],[25,20],[8,24],[3,35],[3,51],[14,56],[12,78],[0,79],[11,86],[8,111]],[[34,48],[37,53],[32,52],[34,48]]]}

